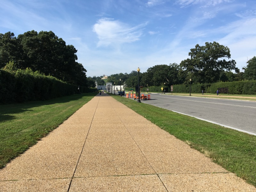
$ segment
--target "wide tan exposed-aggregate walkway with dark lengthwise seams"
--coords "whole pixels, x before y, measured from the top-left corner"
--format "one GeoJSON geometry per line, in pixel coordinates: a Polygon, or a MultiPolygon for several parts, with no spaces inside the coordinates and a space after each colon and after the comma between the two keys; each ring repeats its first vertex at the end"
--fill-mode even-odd
{"type": "Polygon", "coordinates": [[[0,170],[0,191],[256,191],[107,94],[0,170]]]}

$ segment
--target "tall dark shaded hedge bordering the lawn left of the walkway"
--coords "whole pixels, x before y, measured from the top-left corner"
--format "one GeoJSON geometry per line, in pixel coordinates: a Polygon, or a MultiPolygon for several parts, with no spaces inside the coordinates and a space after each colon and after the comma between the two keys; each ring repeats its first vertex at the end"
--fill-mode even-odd
{"type": "MultiPolygon", "coordinates": [[[[0,69],[0,103],[49,100],[74,94],[76,85],[62,82],[55,77],[45,76],[31,69],[9,72],[0,69]]],[[[94,92],[96,88],[80,87],[80,93],[94,92]]]]}

